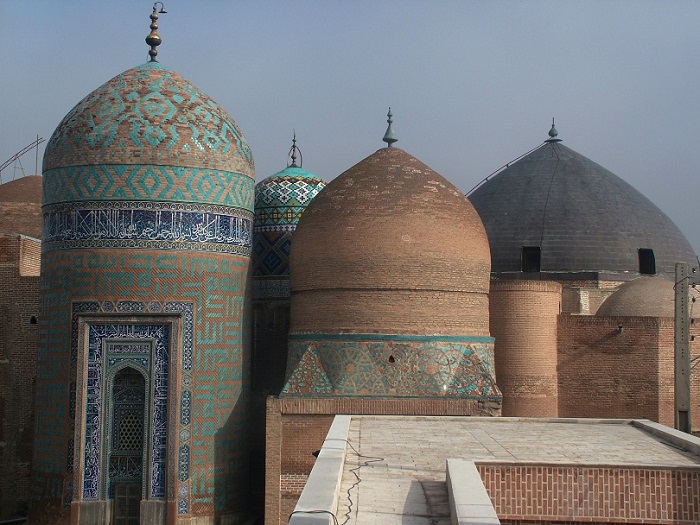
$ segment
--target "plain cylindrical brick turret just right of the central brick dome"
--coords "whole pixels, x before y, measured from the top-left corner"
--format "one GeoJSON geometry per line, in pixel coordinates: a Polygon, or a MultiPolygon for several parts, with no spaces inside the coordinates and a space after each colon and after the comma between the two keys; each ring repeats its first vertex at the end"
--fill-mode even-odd
{"type": "Polygon", "coordinates": [[[491,334],[503,416],[557,417],[561,284],[491,281],[491,334]]]}

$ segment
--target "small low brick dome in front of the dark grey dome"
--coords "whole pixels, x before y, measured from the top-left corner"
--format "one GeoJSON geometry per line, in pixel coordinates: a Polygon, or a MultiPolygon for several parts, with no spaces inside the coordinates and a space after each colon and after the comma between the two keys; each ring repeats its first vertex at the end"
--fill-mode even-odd
{"type": "Polygon", "coordinates": [[[600,305],[598,317],[673,317],[673,282],[661,277],[643,276],[620,286],[600,305]]]}

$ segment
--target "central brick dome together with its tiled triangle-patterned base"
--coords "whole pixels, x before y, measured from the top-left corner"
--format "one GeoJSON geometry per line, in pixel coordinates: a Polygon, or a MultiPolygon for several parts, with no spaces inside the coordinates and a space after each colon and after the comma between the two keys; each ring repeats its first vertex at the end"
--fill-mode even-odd
{"type": "Polygon", "coordinates": [[[290,269],[282,395],[500,400],[486,233],[405,151],[381,149],[328,184],[299,221],[290,269]]]}

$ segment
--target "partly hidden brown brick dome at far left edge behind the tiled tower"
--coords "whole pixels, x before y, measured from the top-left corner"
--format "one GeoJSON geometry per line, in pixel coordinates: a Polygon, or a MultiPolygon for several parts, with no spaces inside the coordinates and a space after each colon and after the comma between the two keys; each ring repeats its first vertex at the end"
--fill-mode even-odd
{"type": "Polygon", "coordinates": [[[0,232],[41,238],[41,176],[0,184],[0,232]]]}

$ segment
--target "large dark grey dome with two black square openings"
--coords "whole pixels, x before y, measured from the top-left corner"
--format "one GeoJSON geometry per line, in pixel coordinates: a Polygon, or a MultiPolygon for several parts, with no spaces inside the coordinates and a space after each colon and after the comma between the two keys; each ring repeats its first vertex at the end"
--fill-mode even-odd
{"type": "MultiPolygon", "coordinates": [[[[625,181],[550,139],[469,195],[486,227],[491,271],[559,278],[673,273],[690,243],[625,181]]],[[[614,276],[611,276],[614,277],[614,276]]]]}

